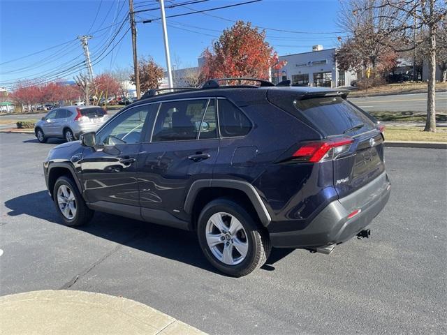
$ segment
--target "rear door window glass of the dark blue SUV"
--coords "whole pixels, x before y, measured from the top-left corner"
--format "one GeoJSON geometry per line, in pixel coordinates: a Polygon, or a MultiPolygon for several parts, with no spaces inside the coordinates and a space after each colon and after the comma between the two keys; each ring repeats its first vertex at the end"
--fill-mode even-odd
{"type": "Polygon", "coordinates": [[[209,99],[161,103],[152,142],[196,140],[209,99]]]}

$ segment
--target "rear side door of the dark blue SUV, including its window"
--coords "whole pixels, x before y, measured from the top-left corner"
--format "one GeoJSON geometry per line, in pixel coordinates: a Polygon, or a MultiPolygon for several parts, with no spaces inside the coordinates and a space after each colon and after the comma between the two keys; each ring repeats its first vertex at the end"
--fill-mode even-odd
{"type": "Polygon", "coordinates": [[[198,98],[157,105],[152,136],[138,156],[142,216],[160,211],[186,219],[186,193],[193,181],[212,177],[219,154],[216,101],[198,98]]]}

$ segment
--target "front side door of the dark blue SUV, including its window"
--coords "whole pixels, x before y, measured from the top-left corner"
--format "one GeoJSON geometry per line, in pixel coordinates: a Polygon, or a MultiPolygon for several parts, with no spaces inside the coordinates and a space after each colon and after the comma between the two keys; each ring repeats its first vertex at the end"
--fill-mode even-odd
{"type": "Polygon", "coordinates": [[[96,146],[84,150],[80,174],[88,202],[139,206],[137,159],[151,108],[138,105],[117,114],[96,134],[96,146]]]}

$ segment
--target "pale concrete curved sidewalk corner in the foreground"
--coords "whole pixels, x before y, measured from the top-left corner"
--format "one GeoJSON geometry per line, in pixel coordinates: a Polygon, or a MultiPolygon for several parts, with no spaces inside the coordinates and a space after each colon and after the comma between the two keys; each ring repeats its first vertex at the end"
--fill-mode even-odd
{"type": "Polygon", "coordinates": [[[123,297],[43,290],[0,297],[0,334],[206,335],[123,297]]]}

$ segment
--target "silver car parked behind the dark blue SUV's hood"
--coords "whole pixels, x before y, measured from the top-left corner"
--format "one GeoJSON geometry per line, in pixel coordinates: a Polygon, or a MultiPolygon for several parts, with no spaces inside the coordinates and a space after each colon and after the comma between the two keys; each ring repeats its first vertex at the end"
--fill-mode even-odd
{"type": "Polygon", "coordinates": [[[36,123],[34,133],[41,143],[47,142],[49,137],[71,142],[82,133],[96,131],[107,120],[107,112],[98,106],[64,106],[48,112],[36,123]]]}

